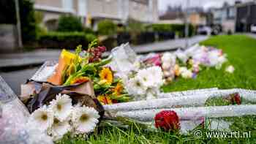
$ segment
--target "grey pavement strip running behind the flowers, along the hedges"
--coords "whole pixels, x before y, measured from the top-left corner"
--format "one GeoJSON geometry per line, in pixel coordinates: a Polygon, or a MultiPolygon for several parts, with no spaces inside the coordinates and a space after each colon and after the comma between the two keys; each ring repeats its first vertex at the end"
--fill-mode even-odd
{"type": "MultiPolygon", "coordinates": [[[[189,38],[189,45],[194,45],[197,42],[207,39],[206,36],[195,36],[189,38]]],[[[185,39],[172,39],[164,42],[154,42],[147,45],[138,45],[133,47],[136,53],[150,53],[167,50],[176,50],[177,48],[185,47],[185,39]]],[[[18,67],[29,67],[43,64],[44,61],[58,60],[61,50],[34,50],[26,53],[0,53],[0,70],[14,69],[18,67]]],[[[105,53],[108,56],[108,53],[105,53]]],[[[105,56],[106,56],[105,55],[105,56]]]]}

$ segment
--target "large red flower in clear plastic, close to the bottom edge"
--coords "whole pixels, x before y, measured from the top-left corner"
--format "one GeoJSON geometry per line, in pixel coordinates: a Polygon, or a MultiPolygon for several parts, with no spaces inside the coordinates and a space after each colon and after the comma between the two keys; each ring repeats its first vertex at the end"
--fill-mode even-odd
{"type": "Polygon", "coordinates": [[[165,129],[165,131],[173,131],[180,129],[178,115],[173,110],[163,110],[154,117],[157,129],[165,129]]]}

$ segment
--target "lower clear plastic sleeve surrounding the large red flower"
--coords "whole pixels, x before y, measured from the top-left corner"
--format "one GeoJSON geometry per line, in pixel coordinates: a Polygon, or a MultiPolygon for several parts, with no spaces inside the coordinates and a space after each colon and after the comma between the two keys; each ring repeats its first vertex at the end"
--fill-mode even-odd
{"type": "Polygon", "coordinates": [[[138,121],[140,124],[145,124],[149,129],[156,129],[155,118],[162,111],[173,111],[177,113],[179,130],[181,133],[186,134],[200,125],[204,129],[229,130],[237,118],[241,119],[246,116],[256,115],[256,105],[118,111],[117,113],[110,113],[110,117],[118,119],[129,118],[138,121]]]}

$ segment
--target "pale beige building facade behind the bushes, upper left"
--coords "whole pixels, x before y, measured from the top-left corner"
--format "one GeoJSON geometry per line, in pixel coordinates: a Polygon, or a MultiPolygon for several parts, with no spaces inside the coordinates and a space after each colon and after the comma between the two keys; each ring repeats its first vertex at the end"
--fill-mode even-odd
{"type": "Polygon", "coordinates": [[[126,23],[129,18],[143,23],[158,20],[157,0],[34,0],[34,8],[43,13],[48,29],[56,29],[60,15],[79,16],[94,29],[104,19],[116,23],[126,23]]]}

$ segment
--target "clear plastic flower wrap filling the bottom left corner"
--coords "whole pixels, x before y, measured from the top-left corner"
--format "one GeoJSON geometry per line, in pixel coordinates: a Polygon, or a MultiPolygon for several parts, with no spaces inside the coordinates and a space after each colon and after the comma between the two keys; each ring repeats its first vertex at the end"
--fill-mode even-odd
{"type": "Polygon", "coordinates": [[[0,142],[4,144],[51,144],[53,141],[34,126],[27,126],[29,111],[0,77],[0,142]]]}

